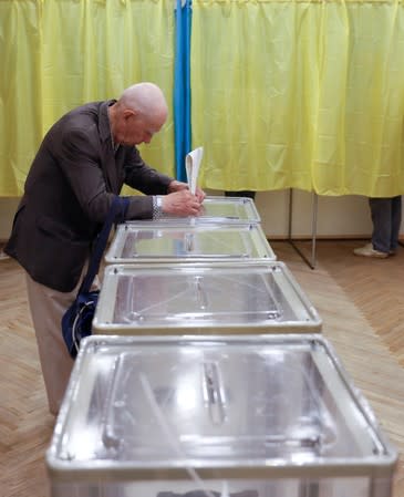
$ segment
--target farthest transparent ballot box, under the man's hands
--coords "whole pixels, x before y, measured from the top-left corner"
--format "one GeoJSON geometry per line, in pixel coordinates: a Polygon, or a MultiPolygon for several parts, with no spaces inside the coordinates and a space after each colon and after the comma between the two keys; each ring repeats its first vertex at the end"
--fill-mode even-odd
{"type": "MultiPolygon", "coordinates": [[[[162,219],[182,220],[184,218],[164,215],[162,219]]],[[[252,198],[219,196],[206,197],[201,213],[193,219],[197,222],[260,222],[261,220],[252,198]]]]}

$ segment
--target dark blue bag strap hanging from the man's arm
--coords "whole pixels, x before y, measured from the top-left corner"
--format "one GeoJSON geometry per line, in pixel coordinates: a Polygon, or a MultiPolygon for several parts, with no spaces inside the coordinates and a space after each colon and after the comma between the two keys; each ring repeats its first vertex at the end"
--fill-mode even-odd
{"type": "Polygon", "coordinates": [[[106,244],[108,241],[112,225],[114,222],[123,222],[125,220],[125,215],[128,205],[130,205],[128,198],[120,196],[114,197],[114,200],[111,205],[110,211],[106,216],[102,230],[100,231],[100,235],[96,238],[96,242],[89,262],[89,269],[80,287],[79,294],[89,293],[91,286],[93,284],[94,278],[99,272],[101,259],[103,257],[106,244]]]}

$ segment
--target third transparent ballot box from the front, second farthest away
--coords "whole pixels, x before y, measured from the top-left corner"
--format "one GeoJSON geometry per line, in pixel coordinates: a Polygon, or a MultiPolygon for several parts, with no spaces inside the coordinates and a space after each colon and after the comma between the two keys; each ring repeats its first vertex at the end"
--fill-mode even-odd
{"type": "Polygon", "coordinates": [[[259,224],[128,222],[120,225],[107,263],[274,260],[259,224]]]}

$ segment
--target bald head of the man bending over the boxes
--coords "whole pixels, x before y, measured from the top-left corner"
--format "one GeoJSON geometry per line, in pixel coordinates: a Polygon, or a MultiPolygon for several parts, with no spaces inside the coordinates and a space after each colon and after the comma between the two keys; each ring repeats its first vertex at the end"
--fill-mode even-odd
{"type": "Polygon", "coordinates": [[[137,83],[127,87],[108,107],[111,133],[115,144],[149,143],[168,115],[167,102],[154,83],[137,83]]]}

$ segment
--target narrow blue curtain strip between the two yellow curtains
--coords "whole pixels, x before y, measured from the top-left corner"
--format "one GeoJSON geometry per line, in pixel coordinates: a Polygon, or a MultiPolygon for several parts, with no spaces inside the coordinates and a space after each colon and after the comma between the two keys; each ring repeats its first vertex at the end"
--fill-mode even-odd
{"type": "Polygon", "coordinates": [[[176,177],[186,182],[185,156],[190,151],[190,23],[191,0],[177,0],[174,69],[174,137],[176,177]]]}

